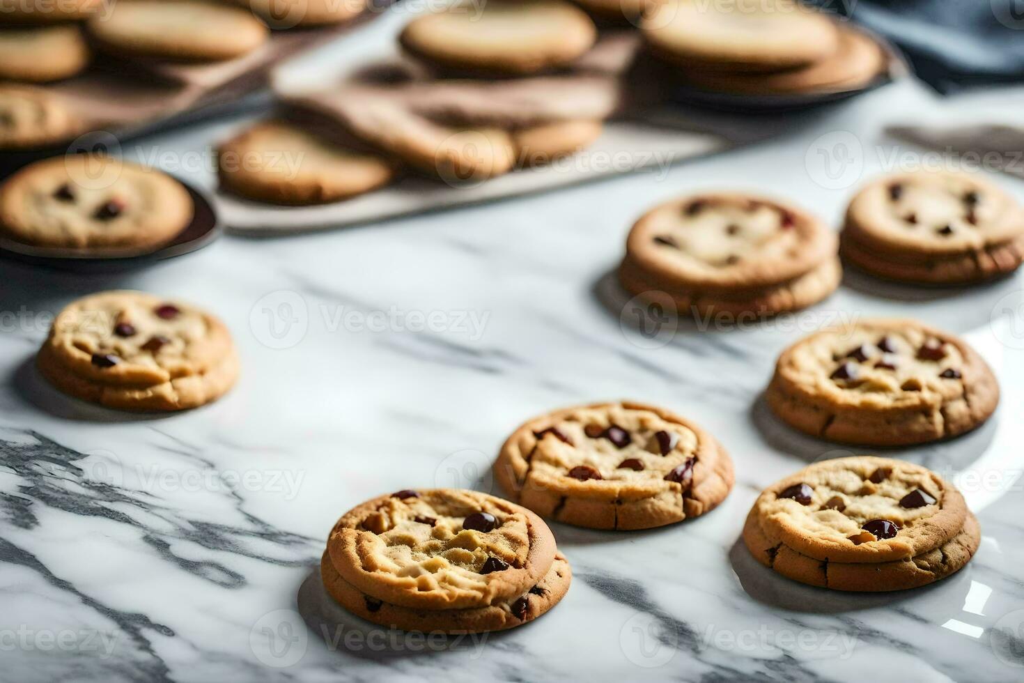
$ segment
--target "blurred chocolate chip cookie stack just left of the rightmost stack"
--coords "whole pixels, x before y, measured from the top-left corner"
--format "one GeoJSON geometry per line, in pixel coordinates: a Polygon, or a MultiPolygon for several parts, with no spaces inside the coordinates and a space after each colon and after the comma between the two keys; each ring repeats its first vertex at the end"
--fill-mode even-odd
{"type": "Polygon", "coordinates": [[[632,294],[682,315],[763,316],[831,294],[842,276],[836,252],[835,234],[796,207],[699,195],[637,221],[618,278],[632,294]]]}

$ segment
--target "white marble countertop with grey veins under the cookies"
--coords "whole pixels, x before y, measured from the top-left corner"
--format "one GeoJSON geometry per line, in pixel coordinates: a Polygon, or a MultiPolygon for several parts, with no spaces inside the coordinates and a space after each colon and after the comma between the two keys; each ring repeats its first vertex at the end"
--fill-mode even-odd
{"type": "MultiPolygon", "coordinates": [[[[953,104],[1020,111],[1008,93],[953,104]]],[[[681,325],[656,343],[622,322],[625,298],[606,279],[632,219],[698,188],[777,194],[836,222],[861,177],[938,159],[894,146],[883,126],[946,110],[907,82],[664,177],[321,234],[225,237],[127,273],[0,262],[0,680],[1021,680],[1021,275],[926,292],[850,276],[805,313],[681,325]],[[50,316],[112,288],[219,313],[241,349],[239,386],[144,419],[48,390],[32,356],[50,316]],[[936,586],[807,588],[738,542],[763,486],[843,452],[780,426],[759,398],[777,353],[839,315],[912,315],[964,334],[1001,383],[983,429],[895,453],[954,477],[981,520],[975,561],[936,586]],[[721,438],[736,486],[718,510],[644,532],[554,525],[572,587],[504,634],[426,640],[321,601],[315,566],[349,507],[414,486],[489,490],[487,467],[520,421],[620,397],[678,410],[721,438]]],[[[202,151],[231,125],[126,152],[159,152],[148,158],[186,172],[174,166],[208,162],[202,151]]]]}

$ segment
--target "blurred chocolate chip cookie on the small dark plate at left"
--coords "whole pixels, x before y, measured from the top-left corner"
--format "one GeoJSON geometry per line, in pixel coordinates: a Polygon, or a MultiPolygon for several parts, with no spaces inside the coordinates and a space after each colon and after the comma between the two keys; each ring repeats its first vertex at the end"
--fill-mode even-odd
{"type": "Polygon", "coordinates": [[[193,210],[177,180],[108,156],[36,162],[0,185],[0,233],[37,247],[153,250],[184,229],[193,210]]]}

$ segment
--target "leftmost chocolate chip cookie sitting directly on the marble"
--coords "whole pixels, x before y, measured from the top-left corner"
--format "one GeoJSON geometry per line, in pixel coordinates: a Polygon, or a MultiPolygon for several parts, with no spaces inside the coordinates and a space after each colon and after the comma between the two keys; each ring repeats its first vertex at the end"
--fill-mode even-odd
{"type": "Polygon", "coordinates": [[[61,391],[110,408],[179,411],[210,402],[238,376],[230,334],[213,315],[142,292],[79,299],[38,355],[61,391]]]}

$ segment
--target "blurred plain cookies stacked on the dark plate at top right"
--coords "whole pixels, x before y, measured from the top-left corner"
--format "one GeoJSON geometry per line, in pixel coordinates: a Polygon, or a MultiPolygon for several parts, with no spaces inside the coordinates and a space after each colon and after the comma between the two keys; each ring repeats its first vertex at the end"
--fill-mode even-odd
{"type": "Polygon", "coordinates": [[[871,37],[799,2],[668,0],[644,15],[648,51],[688,85],[793,95],[856,90],[886,68],[871,37]]]}

